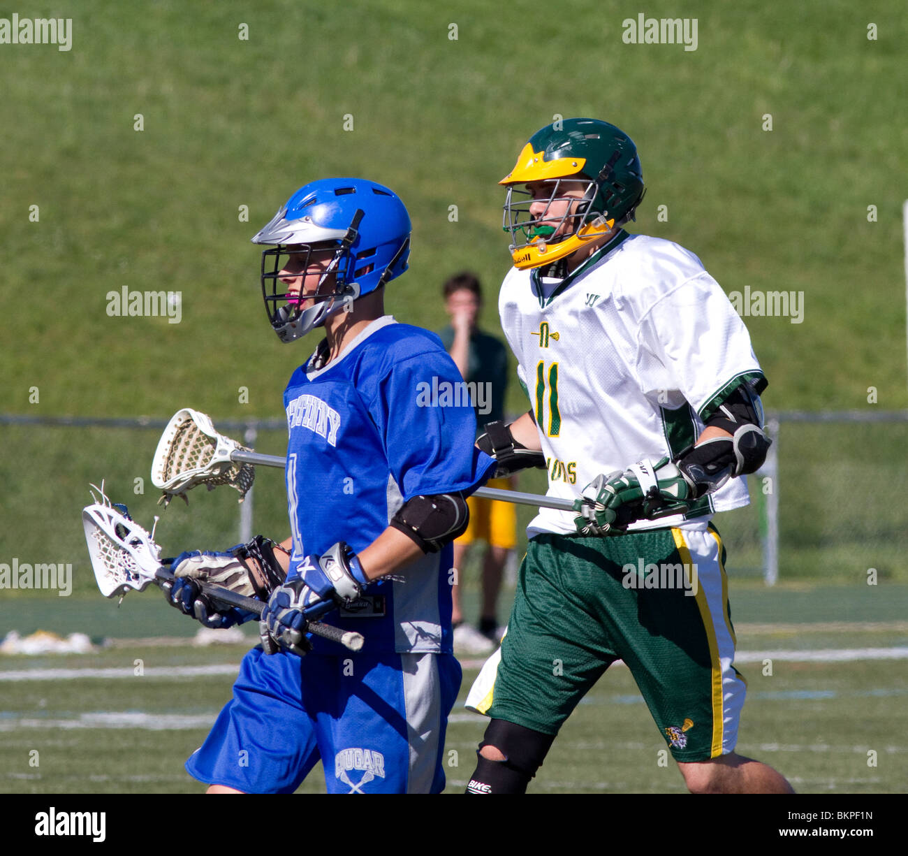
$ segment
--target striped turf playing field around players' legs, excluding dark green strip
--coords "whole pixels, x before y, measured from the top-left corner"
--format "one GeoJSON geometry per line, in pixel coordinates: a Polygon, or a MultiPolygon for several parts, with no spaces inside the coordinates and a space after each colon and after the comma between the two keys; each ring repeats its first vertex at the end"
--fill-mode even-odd
{"type": "MultiPolygon", "coordinates": [[[[742,652],[801,650],[814,643],[908,645],[904,622],[883,631],[793,633],[764,627],[739,635],[742,652]]],[[[237,645],[213,650],[134,645],[92,655],[3,658],[0,683],[9,698],[0,718],[0,792],[200,791],[183,771],[183,761],[229,698],[232,678],[229,672],[180,677],[175,667],[235,665],[242,651],[237,645]],[[146,672],[141,677],[133,674],[137,660],[146,672]],[[123,676],[7,682],[9,672],[34,675],[44,669],[106,669],[123,676]],[[33,750],[39,753],[37,766],[29,763],[33,750]]],[[[798,791],[905,790],[908,749],[893,725],[893,709],[908,694],[903,660],[779,661],[772,676],[763,676],[759,663],[741,668],[749,691],[739,751],[773,764],[798,791]],[[873,765],[868,751],[877,753],[873,765]]],[[[465,787],[485,727],[481,717],[460,707],[476,673],[465,670],[449,723],[447,792],[465,787]]],[[[666,766],[659,755],[664,748],[629,672],[616,666],[567,722],[531,790],[682,792],[674,763],[666,766]]],[[[324,792],[321,771],[313,771],[300,790],[324,792]]]]}

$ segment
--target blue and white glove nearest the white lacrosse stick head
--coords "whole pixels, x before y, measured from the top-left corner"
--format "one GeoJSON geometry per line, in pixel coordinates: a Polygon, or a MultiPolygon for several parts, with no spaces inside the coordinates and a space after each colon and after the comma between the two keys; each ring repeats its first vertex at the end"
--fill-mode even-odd
{"type": "Polygon", "coordinates": [[[215,629],[247,622],[254,614],[235,607],[216,607],[202,590],[203,583],[265,601],[286,576],[274,556],[273,542],[262,535],[227,552],[182,552],[173,559],[171,567],[176,579],[162,586],[167,602],[205,627],[215,629]]]}

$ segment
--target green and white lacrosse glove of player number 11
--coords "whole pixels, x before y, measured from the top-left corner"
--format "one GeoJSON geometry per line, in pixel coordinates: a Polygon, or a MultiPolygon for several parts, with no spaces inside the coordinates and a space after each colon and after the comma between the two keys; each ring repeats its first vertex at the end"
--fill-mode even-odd
{"type": "Polygon", "coordinates": [[[669,458],[644,458],[587,484],[574,503],[574,525],[582,535],[621,534],[628,523],[684,513],[695,497],[696,487],[669,458]]]}

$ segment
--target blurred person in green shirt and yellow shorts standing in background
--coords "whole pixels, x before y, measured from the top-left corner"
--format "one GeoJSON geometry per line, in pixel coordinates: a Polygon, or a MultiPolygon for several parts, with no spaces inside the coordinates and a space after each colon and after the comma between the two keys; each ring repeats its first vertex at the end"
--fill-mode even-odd
{"type": "MultiPolygon", "coordinates": [[[[476,274],[464,272],[451,276],[442,293],[449,326],[439,331],[441,343],[457,364],[473,395],[478,432],[483,425],[504,419],[505,393],[508,388],[508,349],[495,336],[484,333],[477,325],[482,305],[482,288],[476,274]]],[[[492,479],[489,487],[513,487],[509,479],[492,479]]],[[[463,620],[459,587],[454,585],[453,612],[455,651],[484,654],[498,645],[497,605],[501,577],[508,554],[516,546],[517,513],[511,503],[500,503],[471,496],[469,527],[454,542],[454,567],[462,568],[463,560],[474,541],[488,544],[482,563],[482,605],[479,629],[463,620]]]]}

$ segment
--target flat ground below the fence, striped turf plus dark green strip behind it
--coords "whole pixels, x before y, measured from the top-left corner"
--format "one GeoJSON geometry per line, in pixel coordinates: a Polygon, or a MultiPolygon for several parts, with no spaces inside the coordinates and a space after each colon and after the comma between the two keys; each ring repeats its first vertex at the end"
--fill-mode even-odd
{"type": "MultiPolygon", "coordinates": [[[[475,582],[467,582],[468,609],[475,582]]],[[[908,749],[896,723],[908,695],[908,585],[890,583],[876,591],[732,585],[739,669],[748,682],[739,751],[773,764],[798,791],[904,791],[908,749]],[[867,649],[900,649],[900,659],[873,659],[881,655],[867,649]],[[830,656],[847,658],[849,651],[855,659],[827,662],[830,656]]],[[[196,625],[166,609],[154,592],[130,595],[120,610],[88,596],[66,599],[62,609],[34,598],[18,605],[15,617],[0,617],[0,634],[50,624],[62,633],[87,628],[95,642],[113,638],[115,646],[91,654],[0,655],[6,699],[0,792],[199,791],[183,761],[230,697],[245,647],[192,647],[196,625]],[[163,640],[143,641],[153,636],[163,640]],[[134,673],[137,662],[141,676],[134,673]],[[178,672],[219,666],[214,674],[178,672]],[[37,767],[29,764],[34,750],[37,767]]],[[[245,632],[252,643],[253,629],[245,632]]],[[[465,787],[485,728],[481,717],[462,709],[479,668],[479,662],[464,663],[445,750],[447,792],[465,787]]],[[[683,792],[674,763],[666,766],[659,755],[664,748],[630,673],[615,666],[568,720],[532,790],[683,792]]],[[[301,792],[323,791],[317,769],[301,792]]]]}

